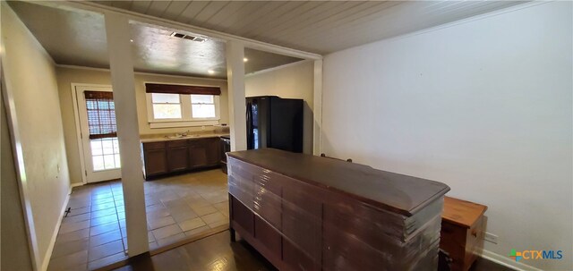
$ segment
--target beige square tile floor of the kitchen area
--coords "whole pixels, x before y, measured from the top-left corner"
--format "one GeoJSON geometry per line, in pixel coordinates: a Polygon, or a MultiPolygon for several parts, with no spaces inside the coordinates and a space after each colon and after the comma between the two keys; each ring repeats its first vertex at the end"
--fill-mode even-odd
{"type": "MultiPolygon", "coordinates": [[[[145,182],[150,249],[228,225],[227,175],[220,170],[145,182]]],[[[121,182],[73,189],[48,270],[87,270],[126,258],[121,182]]]]}

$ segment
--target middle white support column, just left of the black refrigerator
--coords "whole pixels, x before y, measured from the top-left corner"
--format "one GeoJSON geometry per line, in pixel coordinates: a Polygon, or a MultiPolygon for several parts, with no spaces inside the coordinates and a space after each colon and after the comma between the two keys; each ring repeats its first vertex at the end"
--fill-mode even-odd
{"type": "Polygon", "coordinates": [[[231,151],[247,149],[247,121],[244,105],[244,44],[227,41],[227,89],[231,151]]]}

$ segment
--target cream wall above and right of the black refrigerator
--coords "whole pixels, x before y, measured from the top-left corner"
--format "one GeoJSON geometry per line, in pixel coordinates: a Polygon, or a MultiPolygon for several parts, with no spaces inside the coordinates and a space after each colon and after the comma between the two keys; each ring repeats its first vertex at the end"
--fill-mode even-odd
{"type": "Polygon", "coordinates": [[[304,99],[304,153],[312,154],[314,63],[295,64],[248,74],[244,78],[246,97],[278,96],[304,99]]]}

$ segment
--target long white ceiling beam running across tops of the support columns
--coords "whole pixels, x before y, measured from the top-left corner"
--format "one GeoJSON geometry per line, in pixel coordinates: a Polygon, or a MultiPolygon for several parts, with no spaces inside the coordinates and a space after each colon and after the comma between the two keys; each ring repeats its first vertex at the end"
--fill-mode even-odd
{"type": "Polygon", "coordinates": [[[250,38],[243,38],[243,37],[219,32],[216,30],[208,30],[208,29],[204,29],[204,28],[200,28],[200,27],[195,27],[195,26],[192,26],[190,24],[185,24],[185,23],[178,22],[178,21],[170,21],[170,20],[153,17],[153,16],[146,15],[146,14],[134,13],[131,11],[126,11],[123,9],[119,9],[119,8],[115,8],[113,6],[107,6],[107,5],[103,5],[103,4],[96,4],[96,3],[87,2],[87,1],[81,1],[81,2],[80,1],[78,1],[78,2],[75,2],[75,1],[35,1],[33,3],[34,4],[47,5],[47,6],[51,6],[51,7],[57,7],[57,8],[64,8],[64,9],[68,9],[68,10],[69,9],[79,9],[79,10],[90,11],[90,12],[94,12],[94,13],[121,15],[121,16],[124,16],[127,20],[140,21],[140,22],[149,23],[149,24],[153,24],[153,25],[157,25],[157,26],[165,27],[165,28],[169,28],[169,29],[188,31],[188,32],[191,32],[194,34],[208,36],[210,38],[217,38],[217,39],[224,41],[224,42],[236,41],[236,42],[240,42],[240,43],[244,44],[244,47],[249,47],[249,48],[253,48],[253,49],[257,49],[257,50],[261,50],[261,51],[265,51],[265,52],[269,52],[269,53],[274,53],[274,54],[278,54],[278,55],[288,55],[288,56],[293,56],[293,57],[297,57],[297,58],[312,59],[312,60],[322,59],[322,55],[304,52],[301,50],[296,50],[296,49],[288,48],[288,47],[281,47],[278,45],[269,44],[266,42],[262,42],[262,41],[258,41],[258,40],[254,40],[254,39],[250,39],[250,38]]]}

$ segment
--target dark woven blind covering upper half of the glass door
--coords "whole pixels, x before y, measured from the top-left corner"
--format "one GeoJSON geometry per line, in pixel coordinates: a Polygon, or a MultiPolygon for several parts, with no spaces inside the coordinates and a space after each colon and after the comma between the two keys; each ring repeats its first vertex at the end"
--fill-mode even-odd
{"type": "Polygon", "coordinates": [[[84,91],[88,111],[90,140],[117,137],[114,94],[109,91],[84,91]]]}

